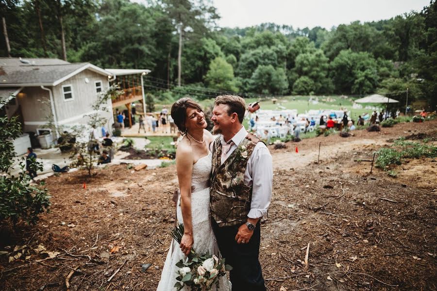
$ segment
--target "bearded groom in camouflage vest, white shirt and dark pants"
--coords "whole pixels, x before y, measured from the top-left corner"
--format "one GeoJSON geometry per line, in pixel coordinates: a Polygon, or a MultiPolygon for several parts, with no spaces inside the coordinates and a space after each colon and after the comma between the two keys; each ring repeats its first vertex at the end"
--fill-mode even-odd
{"type": "Polygon", "coordinates": [[[260,220],[267,214],[272,186],[269,149],[243,127],[246,103],[238,96],[215,100],[212,144],[211,222],[230,272],[233,291],[265,291],[258,260],[260,220]]]}

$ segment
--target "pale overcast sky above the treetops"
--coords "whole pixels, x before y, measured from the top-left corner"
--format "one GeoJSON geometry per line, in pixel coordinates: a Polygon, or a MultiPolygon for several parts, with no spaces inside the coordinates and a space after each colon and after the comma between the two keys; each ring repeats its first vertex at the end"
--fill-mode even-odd
{"type": "Polygon", "coordinates": [[[421,11],[429,0],[213,0],[219,27],[247,27],[264,22],[313,28],[348,24],[355,20],[389,19],[421,11]]]}

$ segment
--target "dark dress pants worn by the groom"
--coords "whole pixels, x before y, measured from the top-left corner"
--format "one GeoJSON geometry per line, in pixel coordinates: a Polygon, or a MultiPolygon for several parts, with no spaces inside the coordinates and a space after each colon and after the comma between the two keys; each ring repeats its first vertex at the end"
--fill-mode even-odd
{"type": "Polygon", "coordinates": [[[261,265],[258,260],[261,239],[260,223],[256,224],[249,243],[238,244],[235,236],[238,226],[219,227],[211,218],[218,248],[226,264],[233,267],[230,272],[232,291],[265,291],[261,265]]]}

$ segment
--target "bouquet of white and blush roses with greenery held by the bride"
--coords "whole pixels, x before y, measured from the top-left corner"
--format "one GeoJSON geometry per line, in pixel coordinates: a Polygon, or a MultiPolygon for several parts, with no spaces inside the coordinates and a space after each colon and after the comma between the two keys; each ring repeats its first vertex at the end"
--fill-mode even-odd
{"type": "MultiPolygon", "coordinates": [[[[184,235],[184,225],[180,224],[175,227],[171,236],[181,243],[184,235]]],[[[179,268],[177,271],[176,284],[177,290],[184,286],[189,286],[192,291],[211,290],[214,285],[219,289],[218,278],[226,275],[226,271],[232,270],[230,265],[225,265],[225,259],[219,260],[216,255],[198,255],[191,248],[187,258],[181,259],[176,263],[179,268]]]]}

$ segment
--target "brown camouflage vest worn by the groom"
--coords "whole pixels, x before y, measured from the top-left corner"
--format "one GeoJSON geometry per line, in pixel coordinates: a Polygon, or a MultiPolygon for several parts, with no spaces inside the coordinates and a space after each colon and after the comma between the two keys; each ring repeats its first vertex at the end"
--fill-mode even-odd
{"type": "Polygon", "coordinates": [[[244,184],[244,173],[253,149],[260,140],[248,134],[221,164],[221,143],[213,148],[210,211],[218,226],[241,225],[251,210],[252,187],[244,184]]]}

